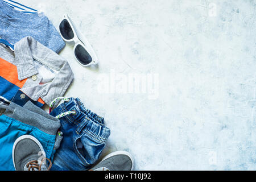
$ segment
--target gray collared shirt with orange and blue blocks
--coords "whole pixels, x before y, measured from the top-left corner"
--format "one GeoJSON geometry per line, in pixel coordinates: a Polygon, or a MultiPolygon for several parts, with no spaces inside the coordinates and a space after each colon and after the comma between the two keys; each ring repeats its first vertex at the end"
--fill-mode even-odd
{"type": "Polygon", "coordinates": [[[73,80],[68,62],[29,36],[15,43],[14,52],[0,43],[0,69],[0,104],[8,104],[16,95],[15,72],[19,85],[23,80],[23,85],[18,88],[23,93],[20,97],[27,96],[35,102],[42,100],[47,105],[63,96],[73,80]],[[8,64],[10,66],[6,67],[8,64]],[[15,71],[11,69],[13,65],[15,71]]]}

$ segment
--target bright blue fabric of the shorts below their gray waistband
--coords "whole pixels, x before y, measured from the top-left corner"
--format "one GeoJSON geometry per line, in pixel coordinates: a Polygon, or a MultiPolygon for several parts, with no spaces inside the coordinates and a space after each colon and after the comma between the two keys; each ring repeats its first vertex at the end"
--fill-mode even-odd
{"type": "MultiPolygon", "coordinates": [[[[13,144],[22,135],[32,135],[42,144],[46,157],[53,158],[55,135],[49,135],[36,127],[24,124],[6,115],[0,116],[0,171],[14,171],[13,144]]],[[[40,156],[39,156],[40,157],[40,156]]]]}

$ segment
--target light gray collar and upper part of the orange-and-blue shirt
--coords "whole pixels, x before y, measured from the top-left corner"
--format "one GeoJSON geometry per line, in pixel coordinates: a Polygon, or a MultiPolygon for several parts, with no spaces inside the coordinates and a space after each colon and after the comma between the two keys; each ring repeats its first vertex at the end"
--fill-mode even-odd
{"type": "Polygon", "coordinates": [[[32,100],[39,98],[49,105],[51,101],[59,96],[63,96],[69,84],[73,80],[73,73],[69,64],[56,52],[43,46],[34,38],[26,37],[14,45],[15,65],[18,71],[18,79],[28,78],[21,91],[32,100]],[[39,64],[56,71],[55,78],[46,84],[36,84],[31,81],[31,76],[38,74],[38,64],[35,67],[35,60],[39,64]],[[31,81],[31,82],[30,82],[31,81]],[[27,83],[30,82],[30,83],[27,83]]]}

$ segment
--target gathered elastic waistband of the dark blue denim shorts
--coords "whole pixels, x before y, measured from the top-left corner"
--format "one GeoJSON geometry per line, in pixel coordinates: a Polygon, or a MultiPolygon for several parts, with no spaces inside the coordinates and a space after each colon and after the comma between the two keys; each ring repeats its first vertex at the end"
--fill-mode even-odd
{"type": "Polygon", "coordinates": [[[75,111],[76,114],[64,116],[69,122],[78,125],[76,133],[86,133],[100,143],[105,143],[110,135],[110,129],[104,125],[104,118],[85,109],[79,98],[69,98],[68,102],[60,105],[61,112],[75,111]],[[95,118],[96,119],[95,119],[95,118]],[[101,121],[101,122],[99,122],[101,121]]]}

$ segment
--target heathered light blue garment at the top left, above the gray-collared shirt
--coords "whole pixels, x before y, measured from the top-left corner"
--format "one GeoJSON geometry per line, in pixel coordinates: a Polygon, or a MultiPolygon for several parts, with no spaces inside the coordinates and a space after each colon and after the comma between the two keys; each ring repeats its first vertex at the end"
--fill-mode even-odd
{"type": "Polygon", "coordinates": [[[15,44],[25,36],[32,36],[57,53],[65,46],[59,32],[43,13],[23,13],[0,0],[0,37],[15,44]]]}

